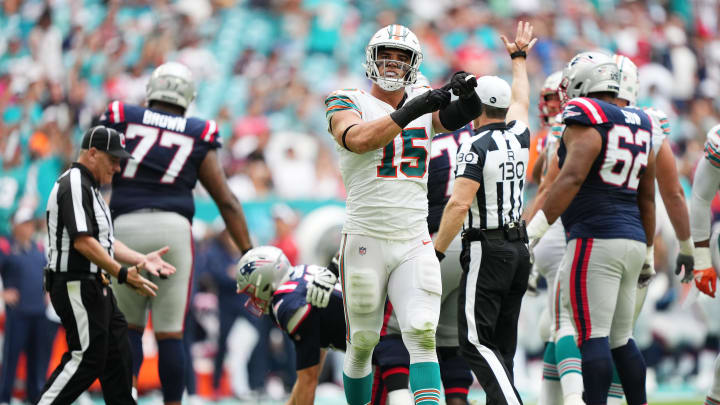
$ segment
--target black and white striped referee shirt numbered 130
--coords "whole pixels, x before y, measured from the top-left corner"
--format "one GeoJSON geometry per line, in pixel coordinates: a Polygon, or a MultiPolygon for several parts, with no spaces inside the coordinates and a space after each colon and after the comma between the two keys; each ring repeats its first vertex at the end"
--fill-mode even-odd
{"type": "Polygon", "coordinates": [[[480,183],[466,228],[497,229],[520,221],[529,147],[530,131],[521,121],[482,126],[463,142],[455,176],[480,183]]]}

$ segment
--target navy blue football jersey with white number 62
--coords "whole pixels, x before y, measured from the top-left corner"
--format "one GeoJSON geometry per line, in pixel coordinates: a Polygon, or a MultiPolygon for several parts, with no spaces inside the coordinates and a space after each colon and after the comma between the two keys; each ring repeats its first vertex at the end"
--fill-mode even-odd
{"type": "MultiPolygon", "coordinates": [[[[620,108],[591,98],[570,100],[563,111],[566,125],[594,127],[602,150],[570,206],[562,214],[569,239],[632,239],[645,243],[637,188],[652,150],[652,124],[640,109],[620,108]]],[[[567,155],[560,142],[562,168],[567,155]]]]}

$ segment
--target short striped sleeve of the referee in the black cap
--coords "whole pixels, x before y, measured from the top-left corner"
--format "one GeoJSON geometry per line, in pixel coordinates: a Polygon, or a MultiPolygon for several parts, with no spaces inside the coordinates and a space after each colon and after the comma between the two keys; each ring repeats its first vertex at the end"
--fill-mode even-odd
{"type": "Polygon", "coordinates": [[[94,212],[92,196],[83,190],[79,169],[71,169],[58,187],[58,212],[74,240],[79,235],[92,235],[94,212]]]}

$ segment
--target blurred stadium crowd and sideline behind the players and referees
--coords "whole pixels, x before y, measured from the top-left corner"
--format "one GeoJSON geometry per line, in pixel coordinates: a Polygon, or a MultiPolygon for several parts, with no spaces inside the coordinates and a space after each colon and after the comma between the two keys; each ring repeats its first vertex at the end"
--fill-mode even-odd
{"type": "MultiPolygon", "coordinates": [[[[639,104],[670,117],[670,141],[688,196],[705,134],[720,121],[718,0],[0,4],[0,251],[6,255],[14,254],[13,241],[21,238],[13,235],[21,227],[13,225],[31,221],[42,245],[47,196],[75,157],[84,130],[112,100],[142,104],[151,71],[170,60],[194,74],[198,95],[189,115],[219,125],[228,182],[243,202],[257,243],[281,246],[294,263],[326,264],[336,249],[345,191],[323,101],[338,88],[369,87],[364,48],[385,25],[404,24],[417,34],[424,53],[421,71],[441,86],[457,70],[510,79],[510,59],[499,35],[513,35],[517,19],[528,19],[539,38],[528,61],[531,112],[537,111],[545,77],[575,53],[602,48],[630,57],[640,69],[639,104]]],[[[539,132],[537,114],[531,114],[530,127],[539,132]]],[[[527,192],[531,198],[533,187],[527,192]]],[[[189,313],[188,350],[197,375],[206,376],[198,380],[200,390],[211,398],[282,397],[294,378],[291,345],[269,321],[246,316],[231,271],[238,252],[203,190],[197,190],[196,201],[197,294],[189,313]],[[214,380],[207,377],[213,369],[218,370],[214,380]]],[[[713,209],[718,218],[720,202],[713,209]]],[[[660,211],[660,274],[651,286],[638,341],[657,392],[699,395],[712,376],[720,308],[697,298],[672,275],[677,247],[660,211]]],[[[8,268],[2,267],[5,283],[13,277],[8,268]]],[[[8,288],[2,297],[6,307],[23,301],[8,288]]],[[[519,386],[532,393],[539,386],[542,352],[535,311],[544,299],[527,300],[537,305],[524,306],[518,357],[528,366],[517,375],[519,386]]],[[[151,344],[150,339],[146,347],[151,344]]],[[[152,350],[146,355],[152,357],[152,350]]],[[[144,369],[152,367],[147,364],[144,369]]],[[[146,378],[152,380],[152,372],[146,378]]],[[[324,378],[337,380],[332,372],[324,378]]],[[[24,386],[22,378],[18,381],[14,388],[20,392],[24,386]]],[[[146,388],[156,387],[151,381],[146,388]]]]}

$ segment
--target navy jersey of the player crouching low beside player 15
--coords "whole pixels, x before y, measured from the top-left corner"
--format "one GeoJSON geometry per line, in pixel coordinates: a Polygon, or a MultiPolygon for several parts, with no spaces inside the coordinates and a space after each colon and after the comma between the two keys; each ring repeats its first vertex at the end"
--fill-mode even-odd
{"type": "Polygon", "coordinates": [[[273,294],[270,315],[295,344],[296,368],[302,370],[320,362],[320,349],[345,350],[345,312],[342,292],[336,288],[325,308],[305,301],[307,280],[318,266],[290,268],[290,280],[273,294]]]}

